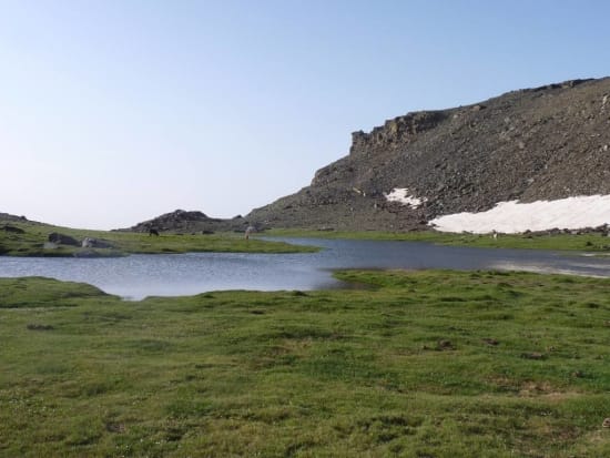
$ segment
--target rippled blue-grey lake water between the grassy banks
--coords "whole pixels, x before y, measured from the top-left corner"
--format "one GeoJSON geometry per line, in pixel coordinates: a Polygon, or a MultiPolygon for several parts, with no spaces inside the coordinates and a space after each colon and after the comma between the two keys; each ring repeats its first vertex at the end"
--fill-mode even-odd
{"type": "Polygon", "coordinates": [[[299,254],[187,253],[115,258],[0,256],[0,277],[37,275],[85,282],[130,299],[221,289],[340,287],[342,283],[332,277],[332,271],[338,268],[495,268],[610,277],[609,257],[586,257],[578,253],[394,241],[273,240],[324,250],[299,254]]]}

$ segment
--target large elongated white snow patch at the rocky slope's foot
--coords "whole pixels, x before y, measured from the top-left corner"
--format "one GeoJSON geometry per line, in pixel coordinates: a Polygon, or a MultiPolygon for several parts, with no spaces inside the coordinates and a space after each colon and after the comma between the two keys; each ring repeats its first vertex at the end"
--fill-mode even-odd
{"type": "Polygon", "coordinates": [[[578,230],[610,223],[610,195],[589,195],[537,201],[522,204],[518,201],[500,202],[487,212],[456,213],[429,222],[441,232],[499,232],[517,234],[526,231],[551,228],[578,230]]]}

